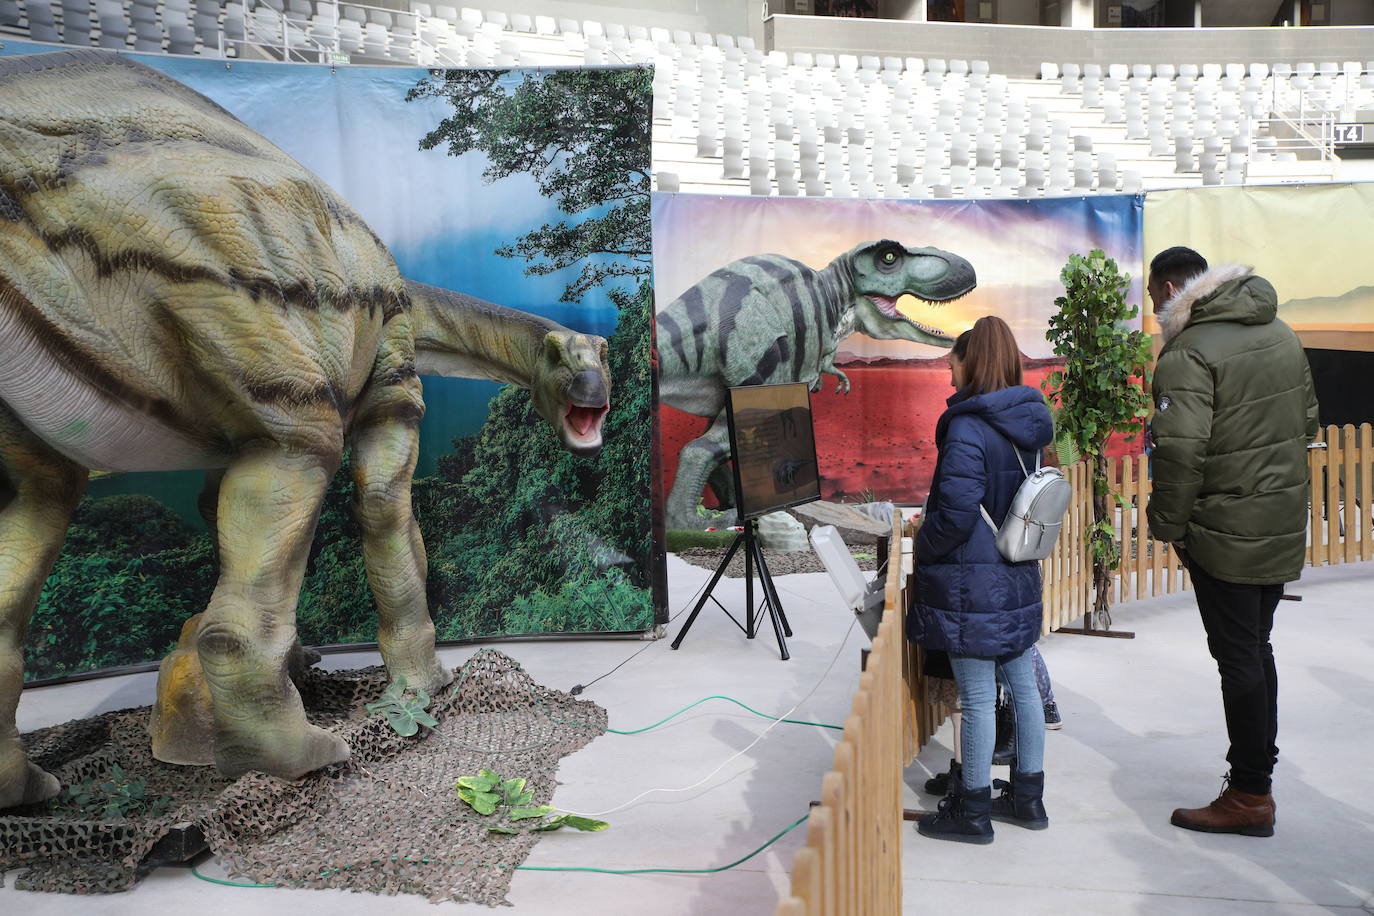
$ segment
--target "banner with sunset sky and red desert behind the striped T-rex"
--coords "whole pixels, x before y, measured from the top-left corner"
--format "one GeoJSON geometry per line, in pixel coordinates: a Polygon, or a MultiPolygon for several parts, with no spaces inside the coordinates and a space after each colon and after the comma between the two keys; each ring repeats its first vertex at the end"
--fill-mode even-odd
{"type": "MultiPolygon", "coordinates": [[[[958,254],[977,273],[977,287],[952,302],[900,297],[896,308],[903,314],[949,336],[980,316],[1003,317],[1021,346],[1026,383],[1039,386],[1057,365],[1044,334],[1054,299],[1063,294],[1059,272],[1070,254],[1102,249],[1131,275],[1129,301],[1142,301],[1140,214],[1139,196],[918,202],[655,194],[660,360],[669,360],[665,350],[672,346],[665,309],[688,294],[694,309],[709,313],[720,294],[712,291],[712,283],[697,284],[732,261],[776,254],[820,271],[860,243],[890,239],[908,250],[937,247],[958,254]]],[[[728,286],[732,272],[725,276],[728,286]]],[[[790,316],[791,305],[782,295],[780,314],[790,316]]],[[[798,349],[791,324],[786,319],[778,331],[791,341],[789,357],[798,349]]],[[[813,358],[813,347],[802,349],[813,358]]],[[[822,375],[823,387],[812,394],[823,499],[907,504],[925,499],[934,471],[936,419],[954,393],[947,353],[938,346],[857,332],[835,343],[834,364],[848,375],[851,390],[841,394],[837,378],[822,375]]],[[[665,368],[665,391],[668,385],[665,368]]],[[[666,402],[660,419],[668,492],[679,452],[709,420],[666,402]]],[[[703,503],[714,504],[709,492],[703,503]]]]}

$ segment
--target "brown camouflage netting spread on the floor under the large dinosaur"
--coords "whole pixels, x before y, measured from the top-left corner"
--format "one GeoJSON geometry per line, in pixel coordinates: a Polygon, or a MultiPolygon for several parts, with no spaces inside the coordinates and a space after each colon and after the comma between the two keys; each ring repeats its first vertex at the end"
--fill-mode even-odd
{"type": "Polygon", "coordinates": [[[497,905],[537,834],[488,835],[458,801],[455,781],[481,769],[523,776],[534,803],[545,805],[558,761],[606,731],[603,709],[534,684],[496,650],[478,651],[434,699],[440,724],[423,736],[401,737],[367,715],[363,705],[385,687],[381,667],[311,669],[298,687],[311,721],[342,735],[353,757],[297,781],[262,773],[228,780],[210,766],[158,762],[148,707],[27,733],[30,758],[65,786],[120,764],[147,780],[150,798],[173,803],[159,817],[104,823],[48,805],[15,809],[0,817],[0,875],[26,869],[18,886],[27,890],[126,890],[158,839],[191,823],[232,875],[253,883],[497,905]]]}

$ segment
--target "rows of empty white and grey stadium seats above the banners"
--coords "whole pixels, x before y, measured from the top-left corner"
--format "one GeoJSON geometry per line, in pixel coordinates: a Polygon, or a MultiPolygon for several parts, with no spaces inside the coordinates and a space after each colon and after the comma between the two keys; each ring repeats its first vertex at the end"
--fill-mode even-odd
{"type": "Polygon", "coordinates": [[[338,52],[420,66],[650,63],[660,184],[676,179],[698,192],[1035,196],[1234,184],[1248,180],[1252,161],[1298,158],[1296,146],[1281,150],[1268,135],[1271,106],[1345,106],[1334,114],[1347,117],[1374,107],[1374,65],[1358,60],[1068,60],[1041,63],[1035,78],[993,73],[987,59],[764,52],[746,36],[682,19],[633,25],[598,10],[609,19],[433,0],[408,10],[349,0],[0,0],[0,27],[40,41],[216,56],[238,56],[250,41],[291,60],[338,52]]]}

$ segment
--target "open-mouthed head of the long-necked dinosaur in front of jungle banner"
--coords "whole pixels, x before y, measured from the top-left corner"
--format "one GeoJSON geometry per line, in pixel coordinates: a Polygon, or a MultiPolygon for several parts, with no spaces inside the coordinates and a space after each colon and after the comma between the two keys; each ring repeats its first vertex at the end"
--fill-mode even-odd
{"type": "Polygon", "coordinates": [[[530,380],[534,411],[573,455],[600,452],[602,423],[610,411],[606,338],[550,331],[530,380]]]}

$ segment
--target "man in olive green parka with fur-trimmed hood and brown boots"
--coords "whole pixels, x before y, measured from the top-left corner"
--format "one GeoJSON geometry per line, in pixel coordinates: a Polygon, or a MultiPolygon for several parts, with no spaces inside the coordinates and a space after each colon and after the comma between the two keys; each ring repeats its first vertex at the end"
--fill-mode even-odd
{"type": "Polygon", "coordinates": [[[1271,836],[1278,677],[1270,632],[1283,584],[1307,552],[1307,444],[1316,397],[1278,297],[1250,268],[1190,249],[1150,265],[1164,334],[1154,371],[1150,533],[1189,567],[1208,648],[1221,676],[1231,742],[1228,786],[1187,829],[1271,836]]]}

